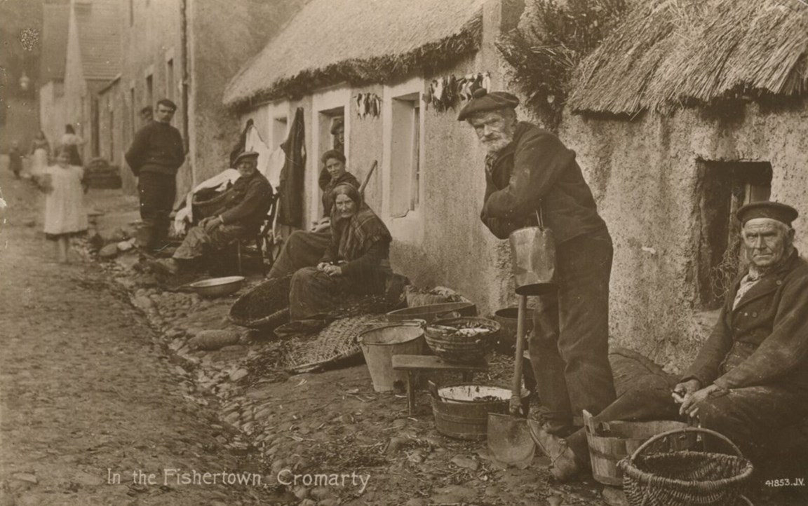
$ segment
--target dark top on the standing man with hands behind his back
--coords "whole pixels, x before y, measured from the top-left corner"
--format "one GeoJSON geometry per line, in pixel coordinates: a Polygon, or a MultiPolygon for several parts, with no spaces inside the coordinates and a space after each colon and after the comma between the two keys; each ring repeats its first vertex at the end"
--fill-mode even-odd
{"type": "Polygon", "coordinates": [[[170,124],[151,121],[137,131],[125,157],[136,176],[141,171],[175,175],[185,161],[183,137],[170,124]]]}

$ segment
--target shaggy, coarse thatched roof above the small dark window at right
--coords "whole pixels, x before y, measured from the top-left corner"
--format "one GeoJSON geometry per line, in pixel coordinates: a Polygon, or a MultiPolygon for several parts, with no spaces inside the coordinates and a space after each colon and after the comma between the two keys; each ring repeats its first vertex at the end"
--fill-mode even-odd
{"type": "Polygon", "coordinates": [[[633,115],[735,92],[806,91],[808,5],[800,0],[649,0],[579,66],[567,104],[633,115]]]}

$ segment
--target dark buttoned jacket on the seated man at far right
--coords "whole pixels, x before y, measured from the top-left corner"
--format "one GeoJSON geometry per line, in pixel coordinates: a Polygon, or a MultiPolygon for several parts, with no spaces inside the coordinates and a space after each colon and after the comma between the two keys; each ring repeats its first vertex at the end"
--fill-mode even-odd
{"type": "Polygon", "coordinates": [[[718,323],[683,378],[696,378],[702,387],[778,384],[808,391],[808,262],[794,250],[733,309],[743,275],[727,293],[718,323]]]}

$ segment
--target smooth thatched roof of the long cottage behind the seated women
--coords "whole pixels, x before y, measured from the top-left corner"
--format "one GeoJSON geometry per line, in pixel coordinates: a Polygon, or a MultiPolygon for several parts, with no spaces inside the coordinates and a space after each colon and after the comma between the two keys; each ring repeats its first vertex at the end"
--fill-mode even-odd
{"type": "Polygon", "coordinates": [[[225,89],[228,107],[389,82],[477,51],[483,0],[310,0],[225,89]]]}

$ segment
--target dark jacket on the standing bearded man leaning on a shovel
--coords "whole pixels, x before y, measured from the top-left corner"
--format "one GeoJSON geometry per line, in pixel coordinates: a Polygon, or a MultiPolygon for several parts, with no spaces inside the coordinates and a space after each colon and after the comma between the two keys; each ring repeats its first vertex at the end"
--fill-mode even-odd
{"type": "Polygon", "coordinates": [[[518,123],[513,142],[486,159],[483,202],[480,218],[499,239],[537,224],[540,203],[558,244],[584,233],[606,232],[575,152],[530,123],[518,123]]]}

